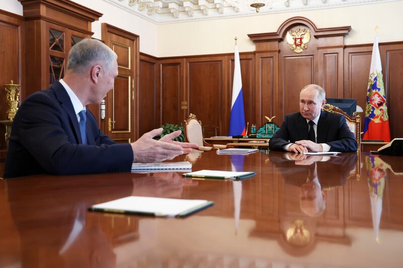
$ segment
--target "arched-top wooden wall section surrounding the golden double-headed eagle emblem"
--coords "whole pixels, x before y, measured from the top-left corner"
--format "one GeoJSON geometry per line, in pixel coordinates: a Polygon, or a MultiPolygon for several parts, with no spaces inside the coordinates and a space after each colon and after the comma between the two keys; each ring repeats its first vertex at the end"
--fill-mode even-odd
{"type": "MultiPolygon", "coordinates": [[[[264,49],[275,49],[276,43],[279,49],[278,64],[274,69],[278,70],[278,95],[274,96],[273,103],[279,104],[278,109],[274,109],[276,118],[274,122],[281,124],[285,114],[297,112],[299,110],[299,93],[301,88],[310,83],[320,85],[327,83],[334,87],[331,95],[337,95],[341,92],[343,77],[332,78],[326,73],[337,69],[336,75],[343,68],[343,62],[340,59],[344,47],[344,36],[346,36],[351,27],[335,27],[318,29],[310,20],[303,17],[294,17],[285,21],[273,33],[249,34],[249,38],[256,44],[256,52],[265,52],[264,49]],[[293,51],[287,42],[286,35],[290,30],[296,31],[309,30],[311,33],[310,41],[306,44],[306,49],[297,53],[293,51]],[[318,49],[330,49],[326,51],[324,58],[319,57],[318,49]],[[335,55],[337,53],[337,56],[335,55]],[[326,75],[326,79],[324,79],[326,75]],[[335,92],[335,93],[334,93],[335,92]]],[[[257,59],[257,57],[256,57],[257,59]]],[[[259,65],[256,64],[256,68],[259,65]]],[[[259,80],[259,72],[256,69],[256,79],[259,80]]],[[[340,72],[342,73],[342,72],[340,72]]]]}

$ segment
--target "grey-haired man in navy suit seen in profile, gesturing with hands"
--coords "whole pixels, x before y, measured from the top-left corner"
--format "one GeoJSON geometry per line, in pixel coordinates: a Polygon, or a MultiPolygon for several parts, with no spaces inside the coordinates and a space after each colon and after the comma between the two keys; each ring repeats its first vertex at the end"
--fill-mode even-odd
{"type": "Polygon", "coordinates": [[[118,75],[117,55],[98,40],[70,50],[64,78],[28,97],[18,109],[9,139],[4,177],[37,173],[79,174],[129,171],[131,163],[159,162],[189,153],[196,144],[172,141],[180,131],[116,144],[98,128],[86,105],[99,104],[118,75]]]}

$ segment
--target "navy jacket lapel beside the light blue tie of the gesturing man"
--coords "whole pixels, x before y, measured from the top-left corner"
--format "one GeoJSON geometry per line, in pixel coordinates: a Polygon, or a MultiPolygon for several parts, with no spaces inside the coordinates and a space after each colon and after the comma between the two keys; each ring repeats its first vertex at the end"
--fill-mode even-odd
{"type": "Polygon", "coordinates": [[[52,84],[52,88],[56,94],[56,99],[61,104],[61,107],[63,107],[63,109],[69,115],[70,122],[74,128],[74,134],[76,136],[77,143],[83,143],[83,141],[81,139],[79,121],[77,120],[77,115],[74,112],[74,107],[73,107],[72,101],[70,100],[69,95],[67,94],[63,85],[59,81],[54,82],[52,84]]]}

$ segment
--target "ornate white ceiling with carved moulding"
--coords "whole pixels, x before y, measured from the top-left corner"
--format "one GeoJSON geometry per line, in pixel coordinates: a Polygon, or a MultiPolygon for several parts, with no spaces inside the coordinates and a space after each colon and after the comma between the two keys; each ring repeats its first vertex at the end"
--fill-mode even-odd
{"type": "MultiPolygon", "coordinates": [[[[130,13],[160,23],[217,19],[234,16],[256,16],[253,8],[238,9],[225,0],[104,0],[130,13]]],[[[284,4],[260,8],[258,14],[282,13],[297,10],[327,9],[395,0],[285,0],[284,4]]],[[[255,0],[255,2],[258,2],[255,0]]],[[[260,1],[261,2],[261,1],[260,1]]]]}

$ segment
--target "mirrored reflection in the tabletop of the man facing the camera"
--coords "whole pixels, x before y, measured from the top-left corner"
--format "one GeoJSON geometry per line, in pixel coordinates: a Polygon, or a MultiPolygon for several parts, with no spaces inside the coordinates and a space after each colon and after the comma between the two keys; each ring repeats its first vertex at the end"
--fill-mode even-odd
{"type": "Polygon", "coordinates": [[[301,211],[311,217],[323,214],[326,207],[324,189],[343,186],[357,159],[356,153],[331,157],[286,153],[270,157],[285,183],[300,187],[301,211]]]}

